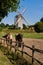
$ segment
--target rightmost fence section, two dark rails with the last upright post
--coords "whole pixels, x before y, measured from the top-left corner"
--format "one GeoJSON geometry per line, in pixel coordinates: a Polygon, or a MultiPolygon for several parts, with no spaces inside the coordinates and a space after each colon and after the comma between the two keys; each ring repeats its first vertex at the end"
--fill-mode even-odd
{"type": "Polygon", "coordinates": [[[32,64],[33,64],[34,60],[36,60],[40,65],[43,65],[42,62],[40,62],[39,60],[37,60],[36,58],[34,58],[34,53],[35,53],[35,51],[38,52],[38,53],[43,54],[43,50],[36,49],[34,45],[32,45],[32,48],[29,47],[29,46],[27,46],[27,45],[24,45],[24,46],[25,46],[26,48],[29,48],[29,49],[32,50],[32,56],[29,55],[27,52],[25,52],[25,54],[27,54],[28,56],[32,57],[32,64]]]}

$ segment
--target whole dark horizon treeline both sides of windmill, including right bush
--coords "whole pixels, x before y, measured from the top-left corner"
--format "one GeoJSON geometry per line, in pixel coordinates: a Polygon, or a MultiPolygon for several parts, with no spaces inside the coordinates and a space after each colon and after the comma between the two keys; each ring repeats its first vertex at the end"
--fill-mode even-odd
{"type": "MultiPolygon", "coordinates": [[[[3,30],[5,28],[11,29],[11,30],[19,29],[19,28],[16,28],[16,26],[14,26],[13,24],[9,25],[9,24],[1,23],[0,24],[0,30],[3,30]]],[[[39,22],[35,23],[34,25],[30,25],[30,26],[27,27],[25,24],[23,24],[23,29],[24,30],[30,29],[30,32],[33,31],[33,30],[36,31],[37,33],[43,32],[43,17],[40,19],[39,22]]]]}

